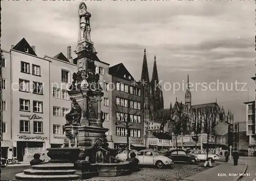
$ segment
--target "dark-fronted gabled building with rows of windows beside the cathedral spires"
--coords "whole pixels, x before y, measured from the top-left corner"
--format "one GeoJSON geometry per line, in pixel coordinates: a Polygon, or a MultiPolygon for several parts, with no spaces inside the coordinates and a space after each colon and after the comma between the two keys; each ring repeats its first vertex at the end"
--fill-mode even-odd
{"type": "MultiPolygon", "coordinates": [[[[109,68],[112,75],[112,124],[114,147],[126,147],[126,136],[130,134],[131,147],[143,147],[143,94],[142,86],[135,83],[134,77],[120,63],[109,68]],[[129,121],[129,128],[125,127],[129,121]]],[[[105,105],[104,105],[105,106],[105,105]]]]}

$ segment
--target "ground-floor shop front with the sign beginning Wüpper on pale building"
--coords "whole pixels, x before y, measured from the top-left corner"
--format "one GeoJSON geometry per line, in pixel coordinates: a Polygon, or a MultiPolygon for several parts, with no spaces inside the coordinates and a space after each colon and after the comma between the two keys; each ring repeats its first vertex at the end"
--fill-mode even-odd
{"type": "Polygon", "coordinates": [[[16,155],[20,162],[30,162],[35,153],[46,150],[48,137],[41,135],[17,135],[16,155]]]}

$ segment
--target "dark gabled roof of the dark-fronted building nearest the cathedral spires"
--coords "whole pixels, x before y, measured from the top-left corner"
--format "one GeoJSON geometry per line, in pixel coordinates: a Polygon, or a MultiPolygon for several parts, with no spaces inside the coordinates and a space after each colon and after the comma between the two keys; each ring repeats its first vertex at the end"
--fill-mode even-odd
{"type": "Polygon", "coordinates": [[[119,63],[117,65],[114,65],[112,67],[109,68],[109,74],[117,76],[117,77],[121,77],[122,79],[128,79],[129,76],[131,76],[131,80],[134,80],[134,77],[131,75],[131,73],[126,69],[126,67],[123,65],[123,63],[119,63]],[[125,75],[125,77],[124,77],[125,75]]]}

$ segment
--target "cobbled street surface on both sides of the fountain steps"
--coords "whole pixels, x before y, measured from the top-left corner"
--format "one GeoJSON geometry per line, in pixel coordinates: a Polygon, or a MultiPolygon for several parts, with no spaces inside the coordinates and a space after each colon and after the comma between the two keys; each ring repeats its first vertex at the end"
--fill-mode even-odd
{"type": "MultiPolygon", "coordinates": [[[[175,164],[173,168],[142,168],[140,172],[134,172],[131,175],[117,177],[94,177],[93,180],[180,180],[198,172],[204,171],[207,168],[200,165],[175,164]]],[[[16,166],[2,168],[2,180],[14,180],[15,174],[23,172],[24,169],[30,166],[16,166]]]]}

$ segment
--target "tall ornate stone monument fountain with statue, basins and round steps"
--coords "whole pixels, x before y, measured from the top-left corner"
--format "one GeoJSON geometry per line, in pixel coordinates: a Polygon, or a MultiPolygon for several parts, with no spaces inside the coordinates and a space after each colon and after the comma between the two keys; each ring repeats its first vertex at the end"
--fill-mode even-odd
{"type": "Polygon", "coordinates": [[[116,149],[108,146],[102,126],[102,88],[95,61],[99,61],[91,41],[91,14],[85,3],[79,5],[80,31],[75,54],[77,73],[70,86],[72,109],[63,126],[66,138],[63,148],[48,148],[49,163],[32,165],[31,169],[15,175],[18,180],[75,180],[93,176],[118,176],[131,173],[130,162],[113,157],[116,149]]]}

